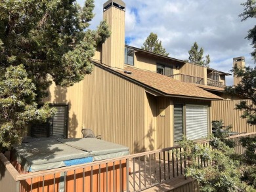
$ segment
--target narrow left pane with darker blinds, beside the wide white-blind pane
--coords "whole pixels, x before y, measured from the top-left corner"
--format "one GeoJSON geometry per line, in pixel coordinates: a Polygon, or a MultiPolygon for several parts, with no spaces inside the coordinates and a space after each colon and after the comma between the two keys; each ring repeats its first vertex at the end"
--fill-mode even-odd
{"type": "Polygon", "coordinates": [[[182,140],[183,135],[183,105],[174,105],[174,141],[182,140]]]}

